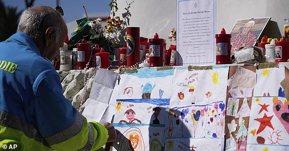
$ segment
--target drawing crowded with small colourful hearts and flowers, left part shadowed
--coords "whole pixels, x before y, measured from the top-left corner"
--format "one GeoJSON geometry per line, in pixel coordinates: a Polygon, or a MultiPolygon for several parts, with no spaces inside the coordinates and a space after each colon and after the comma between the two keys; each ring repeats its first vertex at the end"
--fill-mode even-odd
{"type": "Polygon", "coordinates": [[[171,106],[165,126],[166,136],[224,138],[222,135],[225,130],[224,108],[220,108],[224,105],[223,101],[219,101],[205,105],[171,106]],[[177,115],[172,116],[171,111],[177,115]]]}

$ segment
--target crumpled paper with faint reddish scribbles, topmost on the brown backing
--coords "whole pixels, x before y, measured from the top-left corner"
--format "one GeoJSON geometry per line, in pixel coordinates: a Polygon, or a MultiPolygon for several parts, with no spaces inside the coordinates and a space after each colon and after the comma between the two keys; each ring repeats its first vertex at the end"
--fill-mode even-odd
{"type": "Polygon", "coordinates": [[[256,84],[256,73],[236,66],[236,72],[228,80],[228,92],[233,98],[244,98],[252,96],[252,90],[256,84]]]}

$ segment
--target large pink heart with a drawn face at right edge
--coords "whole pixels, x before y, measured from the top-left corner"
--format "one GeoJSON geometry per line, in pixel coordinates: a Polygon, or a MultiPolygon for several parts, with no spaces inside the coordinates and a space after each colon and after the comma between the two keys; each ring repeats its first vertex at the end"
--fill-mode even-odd
{"type": "Polygon", "coordinates": [[[273,98],[273,103],[273,111],[275,115],[289,134],[289,103],[285,101],[285,104],[283,104],[275,97],[273,98]]]}

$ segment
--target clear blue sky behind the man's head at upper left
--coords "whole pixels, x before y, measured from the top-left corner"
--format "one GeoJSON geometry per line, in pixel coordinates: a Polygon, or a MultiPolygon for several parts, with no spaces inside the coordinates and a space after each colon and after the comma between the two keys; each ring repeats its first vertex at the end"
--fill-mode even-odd
{"type": "MultiPolygon", "coordinates": [[[[83,5],[90,18],[108,17],[110,15],[110,0],[58,0],[59,5],[64,11],[65,22],[71,22],[85,17],[83,5]]],[[[6,7],[17,7],[17,11],[25,10],[25,0],[2,0],[6,7]]],[[[33,6],[50,6],[55,8],[55,0],[35,0],[33,6]]]]}

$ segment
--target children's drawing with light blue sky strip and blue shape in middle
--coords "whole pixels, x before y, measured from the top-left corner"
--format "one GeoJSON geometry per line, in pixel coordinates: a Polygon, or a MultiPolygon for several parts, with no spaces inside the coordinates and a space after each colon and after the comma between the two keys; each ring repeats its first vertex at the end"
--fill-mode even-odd
{"type": "Polygon", "coordinates": [[[157,68],[139,68],[137,72],[122,73],[117,87],[117,99],[170,98],[173,74],[173,69],[157,68]]]}

